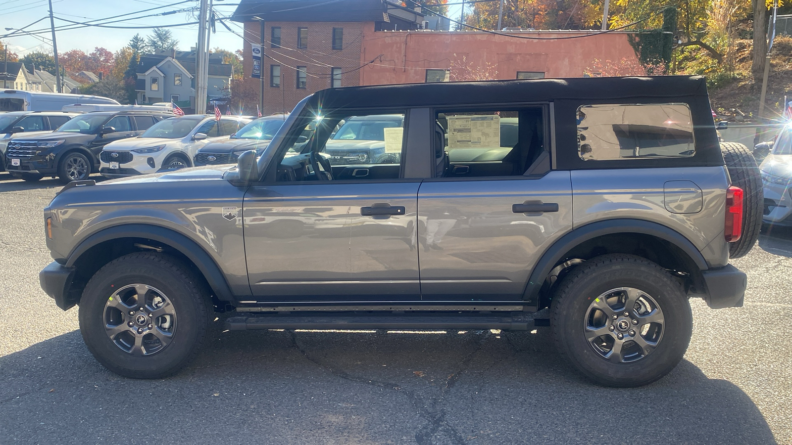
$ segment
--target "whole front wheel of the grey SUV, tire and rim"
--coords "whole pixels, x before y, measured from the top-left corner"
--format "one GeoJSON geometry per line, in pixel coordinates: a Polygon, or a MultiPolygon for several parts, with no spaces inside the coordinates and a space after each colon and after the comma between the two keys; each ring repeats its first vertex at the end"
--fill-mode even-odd
{"type": "Polygon", "coordinates": [[[176,374],[206,337],[208,296],[185,265],[162,253],[130,253],[91,278],[80,332],[99,363],[130,378],[176,374]]]}

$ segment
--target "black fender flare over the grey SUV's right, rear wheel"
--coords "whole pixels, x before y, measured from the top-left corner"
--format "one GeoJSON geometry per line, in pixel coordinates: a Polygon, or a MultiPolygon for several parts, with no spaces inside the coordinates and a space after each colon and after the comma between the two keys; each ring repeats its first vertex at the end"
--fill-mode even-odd
{"type": "Polygon", "coordinates": [[[706,259],[702,253],[699,252],[699,249],[696,249],[695,245],[693,245],[690,240],[676,230],[669,229],[657,222],[646,221],[644,219],[607,219],[605,221],[591,222],[585,226],[581,226],[565,234],[557,242],[554,242],[554,244],[543,253],[539,262],[536,263],[533,272],[531,272],[531,276],[528,278],[528,283],[525,287],[523,300],[531,304],[538,303],[539,289],[542,288],[544,280],[550,274],[550,271],[553,270],[555,264],[558,264],[558,261],[560,261],[569,250],[590,239],[607,234],[619,233],[647,234],[661,238],[680,248],[700,270],[707,270],[710,268],[709,265],[706,264],[706,259]]]}

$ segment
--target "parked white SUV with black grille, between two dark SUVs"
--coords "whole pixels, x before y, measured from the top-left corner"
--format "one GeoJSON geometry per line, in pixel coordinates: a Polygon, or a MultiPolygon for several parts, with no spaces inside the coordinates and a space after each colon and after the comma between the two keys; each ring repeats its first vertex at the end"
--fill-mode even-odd
{"type": "Polygon", "coordinates": [[[162,168],[192,166],[198,149],[227,139],[250,120],[239,116],[174,116],[151,126],[143,135],[109,143],[101,152],[99,173],[128,177],[156,173],[162,168]]]}

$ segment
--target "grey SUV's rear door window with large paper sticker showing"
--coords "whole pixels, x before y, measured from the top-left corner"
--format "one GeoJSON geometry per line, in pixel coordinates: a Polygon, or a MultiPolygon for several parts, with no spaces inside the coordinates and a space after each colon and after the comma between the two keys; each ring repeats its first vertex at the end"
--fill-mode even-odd
{"type": "Polygon", "coordinates": [[[448,154],[439,177],[541,175],[550,169],[541,105],[498,111],[463,108],[436,115],[437,154],[448,154]]]}

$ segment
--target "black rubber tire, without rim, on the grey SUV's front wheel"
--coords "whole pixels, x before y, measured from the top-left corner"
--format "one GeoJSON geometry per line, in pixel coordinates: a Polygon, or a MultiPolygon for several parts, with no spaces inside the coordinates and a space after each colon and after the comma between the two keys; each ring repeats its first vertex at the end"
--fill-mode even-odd
{"type": "MultiPolygon", "coordinates": [[[[89,351],[110,371],[129,378],[165,378],[176,374],[198,354],[210,324],[210,304],[205,284],[181,261],[164,253],[130,253],[109,262],[89,280],[80,300],[80,332],[89,351]],[[176,314],[169,344],[150,356],[135,356],[123,350],[105,329],[105,304],[109,297],[133,283],[161,291],[176,314]]],[[[124,316],[124,323],[133,320],[124,316]]]]}

